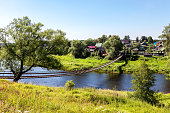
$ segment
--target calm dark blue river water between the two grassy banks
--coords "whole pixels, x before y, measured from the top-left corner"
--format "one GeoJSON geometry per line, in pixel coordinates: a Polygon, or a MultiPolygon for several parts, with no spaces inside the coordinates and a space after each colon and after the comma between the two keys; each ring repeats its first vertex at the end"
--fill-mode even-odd
{"type": "MultiPolygon", "coordinates": [[[[49,72],[47,69],[34,67],[31,72],[49,72]]],[[[52,72],[58,72],[58,70],[52,70],[52,72]]],[[[4,76],[0,74],[0,76],[4,76]]],[[[170,93],[170,80],[166,80],[163,74],[155,74],[156,82],[152,89],[159,90],[160,92],[170,93]]],[[[12,81],[11,79],[9,79],[12,81]]],[[[132,91],[130,88],[131,84],[131,74],[105,74],[105,73],[86,73],[81,76],[63,76],[63,77],[50,77],[50,78],[30,78],[21,79],[21,83],[32,83],[36,85],[44,85],[51,87],[63,87],[67,80],[73,80],[75,87],[94,87],[101,89],[117,89],[117,90],[128,90],[132,91]]]]}

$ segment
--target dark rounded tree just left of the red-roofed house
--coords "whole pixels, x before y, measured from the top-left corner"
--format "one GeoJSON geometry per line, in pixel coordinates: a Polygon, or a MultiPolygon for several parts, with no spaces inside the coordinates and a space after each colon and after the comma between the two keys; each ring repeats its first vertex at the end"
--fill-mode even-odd
{"type": "Polygon", "coordinates": [[[86,46],[80,40],[73,40],[71,42],[71,47],[69,48],[69,51],[75,58],[86,58],[90,56],[90,53],[86,49],[86,46]]]}

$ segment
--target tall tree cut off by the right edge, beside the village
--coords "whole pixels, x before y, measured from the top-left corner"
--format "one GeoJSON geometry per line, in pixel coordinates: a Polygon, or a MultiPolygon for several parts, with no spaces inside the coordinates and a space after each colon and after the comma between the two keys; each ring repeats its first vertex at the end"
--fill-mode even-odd
{"type": "Polygon", "coordinates": [[[167,55],[170,55],[170,24],[165,26],[164,30],[162,31],[161,38],[166,40],[165,44],[165,51],[167,55]]]}

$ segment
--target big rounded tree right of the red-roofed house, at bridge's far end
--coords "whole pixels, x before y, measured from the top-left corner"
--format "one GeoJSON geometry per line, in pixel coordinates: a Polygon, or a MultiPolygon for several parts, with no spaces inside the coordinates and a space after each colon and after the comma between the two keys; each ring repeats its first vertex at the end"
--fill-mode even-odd
{"type": "Polygon", "coordinates": [[[123,44],[120,40],[119,36],[113,35],[111,36],[104,44],[103,47],[106,49],[108,59],[114,59],[123,49],[123,44]]]}

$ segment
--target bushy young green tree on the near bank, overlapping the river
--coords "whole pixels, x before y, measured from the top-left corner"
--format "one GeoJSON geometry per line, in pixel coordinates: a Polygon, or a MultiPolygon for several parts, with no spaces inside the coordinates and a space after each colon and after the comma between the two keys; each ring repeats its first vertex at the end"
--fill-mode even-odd
{"type": "Polygon", "coordinates": [[[150,89],[154,86],[155,76],[149,70],[148,65],[142,62],[139,68],[132,74],[132,89],[135,90],[134,96],[148,103],[156,105],[158,100],[155,96],[156,91],[150,89]]]}

